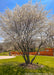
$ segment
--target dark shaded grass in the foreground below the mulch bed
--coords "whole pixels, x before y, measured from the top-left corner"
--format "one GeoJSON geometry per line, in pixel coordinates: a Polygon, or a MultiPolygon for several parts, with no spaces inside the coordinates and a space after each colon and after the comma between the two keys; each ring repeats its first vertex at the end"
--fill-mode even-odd
{"type": "Polygon", "coordinates": [[[32,70],[20,67],[16,62],[0,65],[0,75],[25,75],[25,73],[54,73],[54,68],[45,66],[44,68],[32,70]]]}

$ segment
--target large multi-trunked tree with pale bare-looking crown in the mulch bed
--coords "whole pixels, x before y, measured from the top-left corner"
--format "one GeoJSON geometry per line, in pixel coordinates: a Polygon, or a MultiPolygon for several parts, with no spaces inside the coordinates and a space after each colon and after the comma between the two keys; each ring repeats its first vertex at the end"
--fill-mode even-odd
{"type": "Polygon", "coordinates": [[[5,13],[0,14],[2,36],[5,39],[8,38],[8,41],[12,41],[13,46],[17,46],[17,50],[23,52],[26,64],[32,64],[37,55],[30,61],[29,51],[31,48],[35,50],[38,45],[38,53],[41,46],[50,38],[48,13],[49,11],[45,10],[42,4],[37,2],[35,5],[28,3],[22,7],[16,5],[13,11],[7,9],[5,13]]]}

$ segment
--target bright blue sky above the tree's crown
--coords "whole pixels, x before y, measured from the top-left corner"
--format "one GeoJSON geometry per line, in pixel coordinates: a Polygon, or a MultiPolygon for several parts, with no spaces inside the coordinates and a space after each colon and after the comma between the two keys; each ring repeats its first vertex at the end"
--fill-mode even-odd
{"type": "MultiPolygon", "coordinates": [[[[16,4],[22,6],[23,4],[27,3],[30,0],[0,0],[0,12],[4,12],[5,9],[10,8],[11,10],[16,6],[16,4]]],[[[36,1],[40,0],[32,0],[34,4],[36,1]]],[[[52,14],[54,14],[54,0],[41,0],[42,4],[46,5],[46,9],[52,10],[52,14]]],[[[0,41],[2,38],[0,37],[0,41]]]]}

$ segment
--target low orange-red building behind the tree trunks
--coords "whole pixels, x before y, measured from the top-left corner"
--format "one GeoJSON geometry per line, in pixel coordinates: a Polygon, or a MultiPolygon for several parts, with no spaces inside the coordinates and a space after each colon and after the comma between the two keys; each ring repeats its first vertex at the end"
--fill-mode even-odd
{"type": "MultiPolygon", "coordinates": [[[[26,52],[27,53],[27,52],[26,52]]],[[[23,52],[11,52],[11,55],[22,55],[23,52]]],[[[54,48],[45,48],[44,51],[37,52],[29,52],[30,55],[45,55],[45,56],[54,56],[54,48]]]]}

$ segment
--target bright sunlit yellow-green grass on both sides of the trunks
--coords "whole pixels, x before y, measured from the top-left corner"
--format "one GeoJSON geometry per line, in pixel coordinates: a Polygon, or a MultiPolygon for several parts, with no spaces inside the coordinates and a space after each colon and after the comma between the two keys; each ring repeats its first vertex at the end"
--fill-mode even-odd
{"type": "MultiPolygon", "coordinates": [[[[30,59],[32,59],[33,56],[30,56],[30,59]]],[[[2,59],[0,60],[0,64],[2,63],[8,63],[8,62],[18,62],[20,63],[24,63],[24,59],[22,56],[16,56],[15,58],[12,59],[2,59]]],[[[39,63],[39,64],[43,64],[49,67],[53,67],[54,68],[54,57],[53,56],[37,56],[34,60],[33,63],[39,63]]]]}

